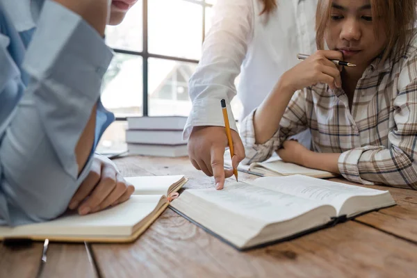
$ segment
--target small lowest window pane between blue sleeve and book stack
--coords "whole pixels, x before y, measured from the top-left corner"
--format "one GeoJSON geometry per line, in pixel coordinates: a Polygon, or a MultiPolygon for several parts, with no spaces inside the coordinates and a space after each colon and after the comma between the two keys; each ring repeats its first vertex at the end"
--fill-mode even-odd
{"type": "Polygon", "coordinates": [[[103,136],[101,136],[96,152],[106,154],[126,150],[126,129],[126,121],[113,122],[110,126],[108,126],[106,131],[104,131],[103,136]]]}

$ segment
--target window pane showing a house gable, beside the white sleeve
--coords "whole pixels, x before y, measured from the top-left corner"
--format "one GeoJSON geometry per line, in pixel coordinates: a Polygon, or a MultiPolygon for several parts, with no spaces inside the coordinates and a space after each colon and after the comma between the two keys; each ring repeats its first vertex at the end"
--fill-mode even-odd
{"type": "Polygon", "coordinates": [[[149,115],[188,116],[188,80],[196,67],[194,63],[149,58],[149,115]]]}

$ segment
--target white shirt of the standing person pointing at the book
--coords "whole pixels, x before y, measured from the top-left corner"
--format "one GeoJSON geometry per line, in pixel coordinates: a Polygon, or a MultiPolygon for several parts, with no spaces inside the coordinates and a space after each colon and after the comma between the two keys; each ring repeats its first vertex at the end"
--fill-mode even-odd
{"type": "MultiPolygon", "coordinates": [[[[237,94],[247,116],[261,104],[281,74],[298,63],[297,54],[316,51],[317,0],[277,0],[277,10],[259,15],[259,0],[219,0],[203,44],[202,58],[190,78],[193,108],[183,137],[193,126],[224,126],[220,99],[237,94]]],[[[237,131],[228,106],[231,128],[237,131]]]]}

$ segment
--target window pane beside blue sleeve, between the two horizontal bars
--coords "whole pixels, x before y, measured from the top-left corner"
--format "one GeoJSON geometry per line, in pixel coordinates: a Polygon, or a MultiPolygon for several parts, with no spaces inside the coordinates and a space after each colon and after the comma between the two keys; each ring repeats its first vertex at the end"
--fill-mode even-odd
{"type": "Polygon", "coordinates": [[[104,76],[104,107],[117,117],[142,115],[142,89],[142,57],[116,54],[104,76]]]}

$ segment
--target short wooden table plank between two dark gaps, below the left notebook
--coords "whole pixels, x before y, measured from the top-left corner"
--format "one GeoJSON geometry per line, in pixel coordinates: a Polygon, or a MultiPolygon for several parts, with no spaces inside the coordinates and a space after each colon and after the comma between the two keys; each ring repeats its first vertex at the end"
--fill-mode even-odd
{"type": "Polygon", "coordinates": [[[97,277],[97,274],[84,244],[49,243],[47,263],[40,277],[87,278],[97,277]]]}

